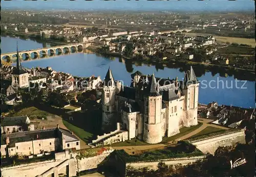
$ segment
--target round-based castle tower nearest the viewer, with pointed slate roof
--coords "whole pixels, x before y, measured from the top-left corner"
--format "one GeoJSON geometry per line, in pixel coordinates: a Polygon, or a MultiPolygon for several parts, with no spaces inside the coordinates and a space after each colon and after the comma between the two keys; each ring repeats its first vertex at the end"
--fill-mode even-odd
{"type": "Polygon", "coordinates": [[[152,75],[150,93],[144,97],[144,133],[146,143],[155,144],[162,141],[161,124],[162,95],[159,94],[155,75],[152,75]]]}

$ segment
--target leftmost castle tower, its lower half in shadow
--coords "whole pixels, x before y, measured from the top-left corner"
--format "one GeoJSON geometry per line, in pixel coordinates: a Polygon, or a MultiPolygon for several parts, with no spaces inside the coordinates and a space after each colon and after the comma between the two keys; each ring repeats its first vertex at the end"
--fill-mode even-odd
{"type": "Polygon", "coordinates": [[[109,68],[103,81],[102,95],[102,130],[109,131],[116,125],[114,113],[116,85],[113,74],[109,68]]]}

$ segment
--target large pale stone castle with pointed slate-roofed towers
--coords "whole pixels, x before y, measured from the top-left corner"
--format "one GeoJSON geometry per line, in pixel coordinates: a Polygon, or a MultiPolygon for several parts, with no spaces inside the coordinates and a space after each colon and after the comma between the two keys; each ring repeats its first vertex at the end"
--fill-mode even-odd
{"type": "Polygon", "coordinates": [[[117,124],[127,139],[155,144],[180,128],[198,124],[199,83],[192,67],[184,79],[161,79],[135,72],[131,86],[115,81],[111,70],[102,85],[102,130],[117,124]],[[119,123],[118,123],[119,122],[119,123]]]}

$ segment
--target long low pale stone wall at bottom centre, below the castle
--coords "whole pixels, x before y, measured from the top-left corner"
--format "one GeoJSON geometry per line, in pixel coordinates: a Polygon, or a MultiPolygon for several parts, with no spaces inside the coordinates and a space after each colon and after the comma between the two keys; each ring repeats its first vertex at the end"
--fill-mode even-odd
{"type": "Polygon", "coordinates": [[[132,163],[126,163],[127,167],[132,167],[135,169],[142,169],[144,167],[147,167],[148,169],[157,169],[157,165],[159,162],[163,162],[166,165],[187,165],[189,163],[196,163],[198,160],[203,160],[205,156],[197,156],[197,157],[190,157],[190,158],[173,158],[173,159],[165,159],[165,160],[159,160],[154,162],[132,162],[132,163]]]}

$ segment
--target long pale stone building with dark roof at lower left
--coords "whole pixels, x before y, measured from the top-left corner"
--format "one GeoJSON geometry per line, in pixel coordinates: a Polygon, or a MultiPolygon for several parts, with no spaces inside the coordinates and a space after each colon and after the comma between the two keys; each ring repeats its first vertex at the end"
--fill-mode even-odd
{"type": "Polygon", "coordinates": [[[71,148],[80,149],[80,141],[73,132],[59,128],[58,125],[56,128],[5,134],[1,139],[2,156],[30,156],[71,148]]]}

